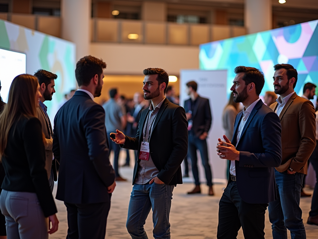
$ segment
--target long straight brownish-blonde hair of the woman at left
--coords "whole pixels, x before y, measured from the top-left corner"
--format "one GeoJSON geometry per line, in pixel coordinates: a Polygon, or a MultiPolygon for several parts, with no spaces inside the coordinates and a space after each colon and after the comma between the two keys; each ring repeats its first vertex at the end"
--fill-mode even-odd
{"type": "Polygon", "coordinates": [[[37,117],[35,101],[38,78],[22,74],[16,76],[10,86],[8,103],[0,115],[0,160],[7,147],[11,127],[21,116],[37,117]]]}

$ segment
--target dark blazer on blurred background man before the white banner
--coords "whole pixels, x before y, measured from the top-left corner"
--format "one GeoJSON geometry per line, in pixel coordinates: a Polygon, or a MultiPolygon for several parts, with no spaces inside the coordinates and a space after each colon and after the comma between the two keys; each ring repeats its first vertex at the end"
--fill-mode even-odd
{"type": "MultiPolygon", "coordinates": [[[[185,112],[189,112],[191,99],[184,101],[185,112]]],[[[209,132],[212,123],[212,115],[209,99],[198,96],[195,108],[192,112],[192,130],[196,137],[204,132],[209,132]]]]}

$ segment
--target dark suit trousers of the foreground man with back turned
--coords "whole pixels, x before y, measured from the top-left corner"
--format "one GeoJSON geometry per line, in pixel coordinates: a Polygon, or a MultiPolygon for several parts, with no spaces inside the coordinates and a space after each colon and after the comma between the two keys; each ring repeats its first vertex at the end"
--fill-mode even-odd
{"type": "Polygon", "coordinates": [[[68,224],[66,239],[105,239],[109,202],[64,204],[67,209],[68,224]]]}

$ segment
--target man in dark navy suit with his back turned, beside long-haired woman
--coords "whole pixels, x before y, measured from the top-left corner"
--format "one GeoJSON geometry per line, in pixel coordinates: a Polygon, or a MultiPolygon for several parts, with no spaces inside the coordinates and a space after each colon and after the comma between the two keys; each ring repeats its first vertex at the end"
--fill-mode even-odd
{"type": "Polygon", "coordinates": [[[79,90],[54,119],[53,153],[60,163],[56,199],[67,208],[67,238],[105,238],[115,173],[109,162],[105,111],[93,101],[105,62],[85,56],[76,64],[79,90]]]}

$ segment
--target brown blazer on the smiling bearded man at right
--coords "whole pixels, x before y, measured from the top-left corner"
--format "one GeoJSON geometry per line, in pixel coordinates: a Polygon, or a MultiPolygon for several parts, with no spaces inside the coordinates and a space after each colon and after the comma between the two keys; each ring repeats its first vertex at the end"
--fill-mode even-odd
{"type": "MultiPolygon", "coordinates": [[[[270,108],[275,112],[278,103],[270,108]]],[[[281,123],[282,162],[277,171],[292,168],[307,174],[307,161],[316,146],[316,115],[314,105],[296,92],[289,98],[279,115],[281,123]]]]}

